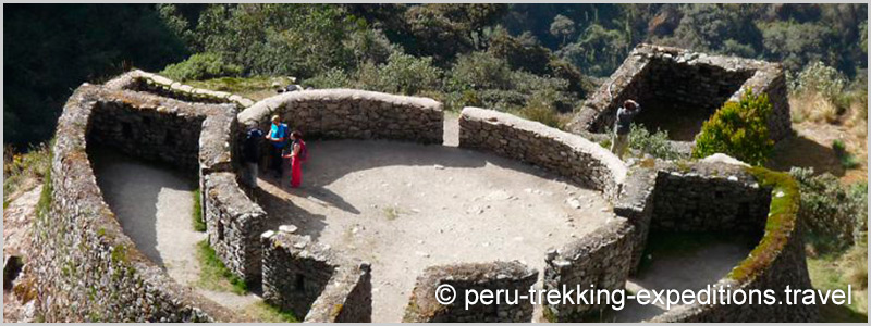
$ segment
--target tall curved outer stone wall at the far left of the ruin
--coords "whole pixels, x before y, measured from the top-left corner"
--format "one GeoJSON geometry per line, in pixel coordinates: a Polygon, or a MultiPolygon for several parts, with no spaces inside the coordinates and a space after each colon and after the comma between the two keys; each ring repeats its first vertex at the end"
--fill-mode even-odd
{"type": "Polygon", "coordinates": [[[121,95],[83,85],[58,122],[44,188],[50,206],[35,221],[34,246],[41,249],[28,267],[39,280],[37,315],[47,322],[234,321],[139,252],[103,201],[85,151],[89,120],[111,101],[147,104],[121,95]]]}

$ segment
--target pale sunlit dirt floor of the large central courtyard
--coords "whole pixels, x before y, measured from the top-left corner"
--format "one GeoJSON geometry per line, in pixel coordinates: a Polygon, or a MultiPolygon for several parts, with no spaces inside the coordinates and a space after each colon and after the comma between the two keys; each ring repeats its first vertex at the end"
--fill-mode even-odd
{"type": "Polygon", "coordinates": [[[270,229],[293,224],[372,264],[373,322],[402,319],[428,266],[519,260],[541,274],[549,248],[613,218],[599,192],[491,154],[397,141],[308,147],[303,188],[261,175],[256,200],[275,216],[270,229]]]}

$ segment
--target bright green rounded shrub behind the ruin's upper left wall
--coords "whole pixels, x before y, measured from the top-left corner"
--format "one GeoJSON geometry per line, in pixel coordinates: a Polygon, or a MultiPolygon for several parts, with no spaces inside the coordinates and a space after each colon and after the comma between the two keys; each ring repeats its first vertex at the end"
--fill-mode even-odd
{"type": "Polygon", "coordinates": [[[242,66],[226,63],[221,55],[214,53],[197,53],[180,63],[170,64],[161,75],[179,82],[203,80],[224,76],[238,76],[242,66]]]}

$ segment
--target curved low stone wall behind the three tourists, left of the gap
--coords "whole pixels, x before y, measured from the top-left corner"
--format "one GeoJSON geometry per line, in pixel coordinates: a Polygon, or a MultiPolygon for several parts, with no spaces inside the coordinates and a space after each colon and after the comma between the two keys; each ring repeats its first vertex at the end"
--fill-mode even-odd
{"type": "Polygon", "coordinates": [[[395,139],[442,143],[442,104],[427,98],[354,89],[285,92],[238,114],[248,129],[269,130],[278,114],[306,138],[395,139]]]}

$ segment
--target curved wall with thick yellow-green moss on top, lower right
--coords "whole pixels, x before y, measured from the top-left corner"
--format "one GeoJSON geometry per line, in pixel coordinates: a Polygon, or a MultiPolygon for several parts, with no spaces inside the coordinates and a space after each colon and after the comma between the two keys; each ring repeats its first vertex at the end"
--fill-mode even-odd
{"type": "MultiPolygon", "coordinates": [[[[731,289],[772,289],[778,300],[783,290],[811,289],[805,259],[800,223],[797,221],[799,193],[797,183],[785,173],[761,167],[749,168],[765,189],[771,189],[771,211],[765,223],[765,234],[759,244],[717,285],[731,289]]],[[[752,322],[799,323],[815,322],[819,310],[805,304],[720,304],[685,305],[671,310],[650,322],[752,322]]]]}

